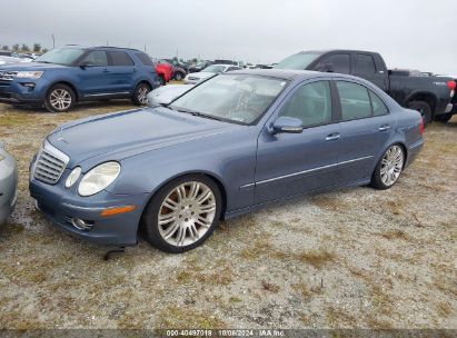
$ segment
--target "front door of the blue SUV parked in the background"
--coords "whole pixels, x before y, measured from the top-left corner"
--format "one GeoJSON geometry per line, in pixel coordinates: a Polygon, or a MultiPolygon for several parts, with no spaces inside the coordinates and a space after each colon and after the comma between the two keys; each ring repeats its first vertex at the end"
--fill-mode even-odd
{"type": "Polygon", "coordinates": [[[79,68],[81,79],[80,91],[85,98],[103,96],[110,90],[110,77],[108,70],[108,56],[103,50],[89,51],[82,58],[79,68]]]}

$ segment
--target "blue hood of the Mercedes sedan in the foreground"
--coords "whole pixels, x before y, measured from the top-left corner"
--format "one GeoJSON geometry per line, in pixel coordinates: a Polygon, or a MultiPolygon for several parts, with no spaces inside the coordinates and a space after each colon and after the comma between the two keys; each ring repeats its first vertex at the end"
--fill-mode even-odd
{"type": "Polygon", "coordinates": [[[71,168],[85,161],[120,161],[142,152],[228,132],[240,126],[195,117],[168,108],[146,108],[63,125],[48,136],[48,141],[70,157],[71,168]]]}

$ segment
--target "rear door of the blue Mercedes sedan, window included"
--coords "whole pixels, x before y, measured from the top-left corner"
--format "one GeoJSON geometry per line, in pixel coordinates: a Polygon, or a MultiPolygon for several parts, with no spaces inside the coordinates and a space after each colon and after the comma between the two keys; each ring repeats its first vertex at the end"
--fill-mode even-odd
{"type": "Polygon", "coordinates": [[[385,102],[367,87],[350,80],[335,84],[340,102],[338,179],[341,185],[367,180],[395,129],[395,120],[385,102]]]}

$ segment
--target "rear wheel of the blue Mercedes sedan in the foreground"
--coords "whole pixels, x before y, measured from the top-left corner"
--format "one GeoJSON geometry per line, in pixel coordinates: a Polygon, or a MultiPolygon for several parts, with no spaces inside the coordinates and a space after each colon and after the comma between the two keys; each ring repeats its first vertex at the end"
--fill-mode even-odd
{"type": "Polygon", "coordinates": [[[405,150],[393,145],[380,158],[371,176],[371,187],[377,190],[390,189],[400,178],[405,165],[405,150]]]}

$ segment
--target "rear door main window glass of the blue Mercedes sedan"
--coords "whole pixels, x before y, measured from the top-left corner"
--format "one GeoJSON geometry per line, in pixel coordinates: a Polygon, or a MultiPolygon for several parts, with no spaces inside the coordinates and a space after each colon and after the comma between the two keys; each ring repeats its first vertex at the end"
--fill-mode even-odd
{"type": "Polygon", "coordinates": [[[341,102],[341,118],[344,121],[371,116],[371,105],[367,88],[345,81],[337,81],[337,88],[341,102]]]}

